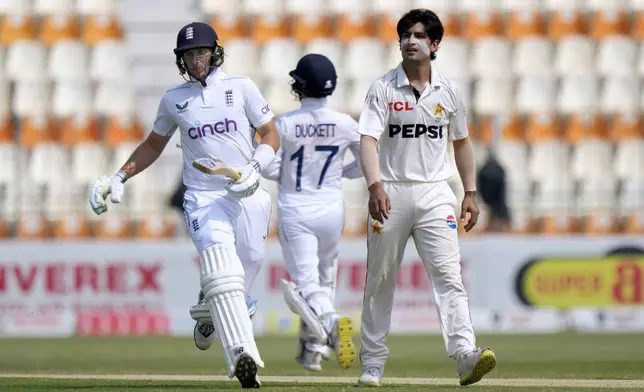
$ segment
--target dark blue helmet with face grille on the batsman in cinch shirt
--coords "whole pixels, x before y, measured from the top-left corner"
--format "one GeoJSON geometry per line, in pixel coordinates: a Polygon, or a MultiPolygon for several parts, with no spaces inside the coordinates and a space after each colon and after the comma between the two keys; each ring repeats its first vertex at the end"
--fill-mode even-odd
{"type": "MultiPolygon", "coordinates": [[[[176,64],[181,76],[188,73],[188,69],[183,61],[183,54],[190,49],[196,48],[212,49],[210,72],[215,67],[219,67],[224,63],[224,47],[219,42],[219,37],[215,29],[207,23],[192,22],[179,30],[179,34],[177,34],[177,47],[174,48],[176,64]]],[[[205,81],[200,82],[205,86],[205,81]]]]}

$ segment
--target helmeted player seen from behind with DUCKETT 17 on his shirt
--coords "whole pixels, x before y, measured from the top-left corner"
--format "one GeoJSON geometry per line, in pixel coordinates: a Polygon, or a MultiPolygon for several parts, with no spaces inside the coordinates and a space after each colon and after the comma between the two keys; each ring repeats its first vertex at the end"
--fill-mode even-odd
{"type": "Polygon", "coordinates": [[[302,106],[277,118],[281,146],[263,174],[279,183],[279,240],[292,279],[282,280],[282,289],[301,319],[296,360],[320,371],[330,347],[340,367],[349,368],[356,358],[353,325],[338,315],[333,302],[344,227],[342,178],[362,177],[358,123],[327,107],[337,86],[327,57],[307,54],[289,75],[302,106]],[[356,159],[343,166],[348,151],[356,159]]]}

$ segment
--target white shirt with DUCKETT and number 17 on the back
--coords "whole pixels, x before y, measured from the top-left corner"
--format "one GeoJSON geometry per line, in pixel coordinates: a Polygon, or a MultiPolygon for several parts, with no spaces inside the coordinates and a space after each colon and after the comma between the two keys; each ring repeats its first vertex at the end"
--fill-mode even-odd
{"type": "Polygon", "coordinates": [[[360,134],[351,116],[326,107],[326,102],[303,98],[301,108],[276,119],[280,149],[271,166],[279,166],[280,219],[292,214],[312,219],[343,201],[345,154],[351,150],[359,159],[360,134]]]}

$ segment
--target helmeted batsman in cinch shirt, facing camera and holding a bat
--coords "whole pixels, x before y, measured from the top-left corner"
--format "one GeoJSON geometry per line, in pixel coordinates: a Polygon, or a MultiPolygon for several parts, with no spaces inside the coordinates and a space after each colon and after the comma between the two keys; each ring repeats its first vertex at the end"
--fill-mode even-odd
{"type": "Polygon", "coordinates": [[[245,301],[244,268],[235,248],[241,199],[259,187],[260,171],[279,148],[273,113],[248,78],[230,76],[219,66],[224,48],[214,29],[190,23],[177,35],[176,63],[187,82],[168,90],[159,104],[153,131],[112,177],[93,186],[90,204],[107,211],[105,199],[118,203],[127,179],[145,170],[161,154],[172,134],[181,132],[186,224],[200,253],[201,290],[227,364],[242,388],[259,388],[264,363],[255,344],[245,301]],[[255,132],[262,137],[257,148],[255,132]],[[237,180],[208,175],[196,160],[216,158],[239,172],[237,180]]]}

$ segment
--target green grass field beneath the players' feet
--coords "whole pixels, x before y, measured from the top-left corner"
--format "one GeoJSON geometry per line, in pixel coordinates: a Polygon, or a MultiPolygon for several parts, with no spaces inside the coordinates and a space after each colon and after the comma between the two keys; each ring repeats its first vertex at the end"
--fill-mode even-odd
{"type": "MultiPolygon", "coordinates": [[[[357,340],[357,339],[356,339],[357,340]]],[[[388,339],[380,390],[455,391],[455,363],[438,336],[388,339]]],[[[475,391],[644,391],[644,335],[559,334],[479,336],[497,354],[497,368],[475,391]]],[[[322,373],[294,361],[293,338],[261,338],[263,389],[355,390],[360,373],[325,362],[322,373]],[[317,377],[317,378],[312,378],[317,377]]],[[[197,350],[191,338],[73,338],[0,340],[0,391],[217,391],[229,381],[217,347],[197,350]],[[36,377],[36,375],[38,375],[36,377]]]]}

